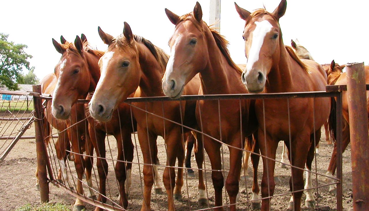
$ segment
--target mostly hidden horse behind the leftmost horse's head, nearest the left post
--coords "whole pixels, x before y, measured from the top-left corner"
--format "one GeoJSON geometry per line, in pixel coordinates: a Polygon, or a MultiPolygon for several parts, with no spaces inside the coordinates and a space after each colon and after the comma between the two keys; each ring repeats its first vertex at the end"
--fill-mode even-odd
{"type": "MultiPolygon", "coordinates": [[[[54,39],[53,43],[56,41],[54,39]]],[[[64,42],[65,39],[61,37],[61,41],[64,42]]],[[[57,43],[57,42],[56,42],[57,43]]],[[[50,94],[53,98],[58,93],[58,86],[60,85],[60,81],[58,81],[58,70],[62,69],[62,66],[65,65],[65,62],[59,61],[59,63],[55,66],[55,72],[49,75],[46,75],[44,79],[41,81],[41,89],[42,93],[50,94]],[[55,74],[56,73],[56,74],[55,74]]],[[[87,121],[84,115],[84,108],[83,105],[74,105],[69,108],[70,115],[63,116],[63,118],[58,119],[59,116],[55,116],[52,112],[52,108],[54,106],[54,101],[48,101],[46,104],[45,109],[45,118],[47,119],[48,123],[53,126],[55,129],[59,131],[58,140],[55,143],[56,154],[59,160],[59,166],[61,167],[60,174],[58,178],[62,177],[62,182],[69,186],[70,189],[73,189],[73,186],[67,175],[66,169],[66,150],[70,149],[70,143],[72,143],[72,152],[79,153],[81,155],[73,155],[74,163],[76,166],[76,171],[78,174],[79,180],[77,181],[77,192],[79,194],[83,193],[82,188],[82,177],[85,173],[86,168],[86,180],[88,181],[89,187],[92,187],[92,180],[91,180],[91,170],[92,170],[92,157],[87,157],[83,159],[83,152],[86,150],[86,155],[93,154],[93,147],[90,144],[89,134],[86,133],[85,128],[87,127],[87,121]]],[[[50,125],[44,123],[44,130],[45,135],[50,135],[51,128],[50,125]]],[[[49,137],[46,138],[46,142],[49,142],[49,137]]],[[[96,197],[93,191],[89,188],[87,196],[94,198],[96,197]]],[[[83,202],[76,198],[75,208],[78,210],[82,210],[80,205],[83,205],[83,202]]]]}

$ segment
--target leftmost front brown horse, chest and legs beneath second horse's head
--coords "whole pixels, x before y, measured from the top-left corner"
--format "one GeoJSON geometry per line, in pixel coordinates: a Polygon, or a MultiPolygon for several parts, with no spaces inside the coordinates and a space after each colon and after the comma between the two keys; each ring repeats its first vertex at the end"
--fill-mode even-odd
{"type": "MultiPolygon", "coordinates": [[[[62,54],[61,64],[55,69],[58,79],[58,89],[53,95],[54,115],[65,117],[70,115],[70,108],[77,99],[90,98],[87,96],[96,88],[100,78],[99,59],[104,54],[102,51],[89,48],[86,37],[83,41],[77,36],[74,42],[59,44],[54,42],[56,50],[62,54]]],[[[77,104],[80,105],[80,104],[77,104]]],[[[83,106],[83,105],[82,105],[83,106]]],[[[83,112],[85,114],[85,112],[83,112]]],[[[86,111],[86,116],[89,116],[86,111]]],[[[112,118],[106,123],[95,121],[93,118],[87,118],[89,122],[89,134],[94,148],[96,149],[97,169],[99,173],[99,197],[98,200],[106,202],[106,177],[108,173],[108,164],[105,159],[105,137],[111,134],[117,140],[118,160],[133,160],[133,144],[131,133],[134,131],[131,122],[130,107],[121,103],[117,109],[112,112],[112,118]]],[[[135,124],[135,122],[134,122],[135,124]]],[[[128,188],[130,186],[131,163],[117,161],[115,165],[115,175],[119,183],[120,204],[127,208],[128,188]],[[125,184],[126,183],[126,184],[125,184]],[[125,188],[125,186],[128,186],[125,188]]],[[[89,183],[92,181],[87,180],[89,183]]],[[[101,210],[96,208],[96,210],[101,210]]]]}

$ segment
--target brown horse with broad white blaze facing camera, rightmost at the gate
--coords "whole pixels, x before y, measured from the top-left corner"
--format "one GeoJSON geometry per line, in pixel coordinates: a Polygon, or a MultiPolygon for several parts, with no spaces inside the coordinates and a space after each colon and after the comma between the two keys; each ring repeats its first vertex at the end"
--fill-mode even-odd
{"type": "MultiPolygon", "coordinates": [[[[246,21],[243,38],[248,62],[241,79],[250,92],[325,90],[327,76],[323,68],[311,60],[301,61],[292,48],[283,44],[279,18],[284,15],[286,6],[286,0],[282,0],[273,13],[264,9],[250,13],[236,4],[239,16],[246,21]]],[[[275,159],[278,142],[284,140],[292,159],[290,163],[301,169],[306,163],[307,169],[310,170],[314,158],[314,136],[318,143],[320,127],[330,113],[330,99],[256,100],[255,110],[259,122],[258,136],[261,153],[268,158],[275,159]],[[287,108],[287,103],[289,103],[289,108],[287,108]],[[265,122],[263,109],[265,109],[265,122]],[[315,116],[313,116],[313,109],[315,116]]],[[[274,174],[274,168],[275,161],[263,157],[262,197],[272,196],[274,193],[275,181],[271,176],[274,174]]],[[[291,191],[302,190],[304,188],[303,170],[291,169],[291,191]]],[[[312,188],[311,173],[308,173],[306,181],[305,187],[312,188]]],[[[301,210],[302,194],[303,191],[292,194],[293,201],[290,201],[289,208],[301,210]]],[[[306,205],[314,206],[313,190],[308,190],[306,195],[306,205]]],[[[262,200],[262,210],[269,209],[270,198],[262,200]]]]}

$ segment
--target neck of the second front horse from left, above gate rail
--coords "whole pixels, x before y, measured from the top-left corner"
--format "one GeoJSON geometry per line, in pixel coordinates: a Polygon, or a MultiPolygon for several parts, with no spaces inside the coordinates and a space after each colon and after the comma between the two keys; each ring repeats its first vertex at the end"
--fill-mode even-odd
{"type": "Polygon", "coordinates": [[[165,69],[161,67],[150,50],[141,43],[137,44],[141,79],[139,87],[146,96],[163,96],[162,78],[165,69]]]}

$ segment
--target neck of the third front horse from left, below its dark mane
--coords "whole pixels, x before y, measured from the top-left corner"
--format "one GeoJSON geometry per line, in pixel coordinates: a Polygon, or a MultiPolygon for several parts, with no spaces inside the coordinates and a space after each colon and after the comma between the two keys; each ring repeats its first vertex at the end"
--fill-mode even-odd
{"type": "Polygon", "coordinates": [[[235,83],[242,84],[241,73],[228,64],[211,31],[207,27],[204,29],[208,52],[211,53],[208,53],[205,69],[200,71],[202,91],[206,95],[234,93],[235,83]]]}

